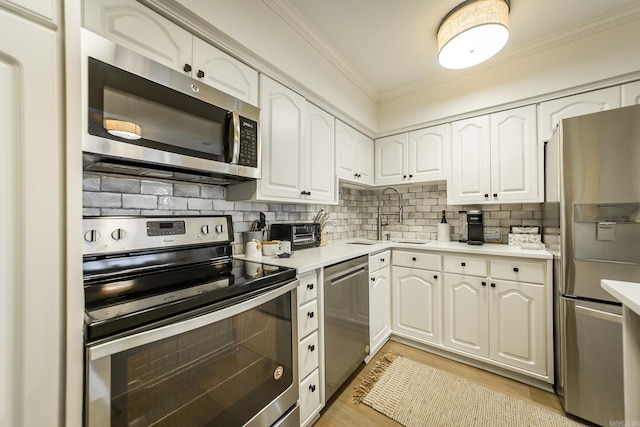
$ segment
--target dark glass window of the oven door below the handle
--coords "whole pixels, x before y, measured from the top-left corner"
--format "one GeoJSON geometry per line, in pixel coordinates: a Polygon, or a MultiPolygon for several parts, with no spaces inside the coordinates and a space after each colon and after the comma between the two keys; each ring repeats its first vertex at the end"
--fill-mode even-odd
{"type": "Polygon", "coordinates": [[[111,425],[245,424],[293,383],[290,295],[112,355],[111,425]]]}

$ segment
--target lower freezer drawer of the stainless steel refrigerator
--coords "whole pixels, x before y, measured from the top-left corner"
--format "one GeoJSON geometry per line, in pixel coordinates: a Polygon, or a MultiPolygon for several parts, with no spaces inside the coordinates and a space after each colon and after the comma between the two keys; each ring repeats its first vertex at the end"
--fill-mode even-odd
{"type": "Polygon", "coordinates": [[[622,307],[561,299],[562,378],[565,411],[593,423],[624,423],[622,307]]]}

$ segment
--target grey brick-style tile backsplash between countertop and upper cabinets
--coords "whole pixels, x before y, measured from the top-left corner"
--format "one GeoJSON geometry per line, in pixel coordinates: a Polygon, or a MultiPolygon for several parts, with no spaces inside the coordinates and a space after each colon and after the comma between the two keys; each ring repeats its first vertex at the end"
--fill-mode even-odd
{"type": "MultiPolygon", "coordinates": [[[[436,239],[437,224],[446,210],[451,224],[451,240],[458,240],[458,210],[481,208],[485,227],[497,228],[507,243],[509,226],[541,225],[542,205],[504,204],[448,206],[446,184],[427,183],[395,187],[403,199],[403,221],[398,222],[395,192],[380,197],[381,213],[388,225],[383,236],[391,238],[436,239]]],[[[330,240],[377,236],[378,197],[382,188],[356,189],[340,186],[339,205],[306,205],[271,202],[228,202],[225,188],[205,184],[178,183],[85,173],[83,213],[106,215],[231,215],[235,231],[234,253],[243,252],[242,232],[264,212],[267,223],[311,221],[325,208],[335,225],[328,229],[330,240]]]]}

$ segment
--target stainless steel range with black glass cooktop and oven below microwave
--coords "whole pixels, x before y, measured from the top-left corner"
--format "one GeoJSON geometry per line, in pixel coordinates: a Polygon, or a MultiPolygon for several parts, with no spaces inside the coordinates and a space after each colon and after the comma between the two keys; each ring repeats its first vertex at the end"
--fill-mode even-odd
{"type": "Polygon", "coordinates": [[[227,216],[84,223],[88,426],[299,425],[295,270],[227,216]]]}

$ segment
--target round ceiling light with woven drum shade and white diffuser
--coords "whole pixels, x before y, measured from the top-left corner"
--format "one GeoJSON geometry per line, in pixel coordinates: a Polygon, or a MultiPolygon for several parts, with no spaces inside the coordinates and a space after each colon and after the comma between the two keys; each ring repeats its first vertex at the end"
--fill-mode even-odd
{"type": "Polygon", "coordinates": [[[460,69],[498,53],[509,39],[509,0],[468,0],[444,17],[438,27],[438,62],[460,69]]]}

